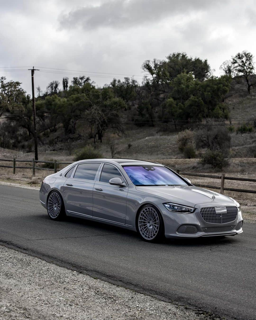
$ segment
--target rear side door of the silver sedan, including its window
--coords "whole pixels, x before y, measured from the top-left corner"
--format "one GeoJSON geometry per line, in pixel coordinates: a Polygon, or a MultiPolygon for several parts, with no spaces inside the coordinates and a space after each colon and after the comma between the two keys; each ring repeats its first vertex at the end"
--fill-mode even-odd
{"type": "MultiPolygon", "coordinates": [[[[73,170],[63,186],[66,210],[92,217],[93,187],[100,163],[81,163],[73,170]]],[[[65,175],[65,176],[66,176],[65,175]]]]}

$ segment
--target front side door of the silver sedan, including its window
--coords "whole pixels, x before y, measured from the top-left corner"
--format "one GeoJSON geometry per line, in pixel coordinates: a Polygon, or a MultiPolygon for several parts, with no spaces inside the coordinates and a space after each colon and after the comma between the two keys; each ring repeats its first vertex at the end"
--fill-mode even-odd
{"type": "Polygon", "coordinates": [[[125,224],[128,185],[120,187],[109,184],[109,180],[116,177],[125,181],[116,166],[105,163],[94,184],[93,217],[125,224]]]}

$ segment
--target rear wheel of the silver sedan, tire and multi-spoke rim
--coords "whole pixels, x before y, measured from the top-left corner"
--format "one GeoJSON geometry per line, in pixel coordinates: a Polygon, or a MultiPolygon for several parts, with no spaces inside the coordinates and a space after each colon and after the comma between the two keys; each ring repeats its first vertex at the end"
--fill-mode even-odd
{"type": "Polygon", "coordinates": [[[47,199],[47,212],[51,220],[66,218],[64,203],[58,191],[52,191],[47,199]]]}

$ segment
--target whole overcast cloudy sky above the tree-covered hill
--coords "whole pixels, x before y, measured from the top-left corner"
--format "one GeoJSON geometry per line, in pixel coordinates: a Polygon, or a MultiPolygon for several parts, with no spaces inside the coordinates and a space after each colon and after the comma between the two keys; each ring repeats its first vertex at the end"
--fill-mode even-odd
{"type": "Polygon", "coordinates": [[[0,0],[0,8],[0,76],[28,93],[33,65],[44,91],[76,74],[99,86],[140,81],[144,60],[172,52],[208,59],[216,76],[231,55],[256,56],[255,0],[0,0]]]}

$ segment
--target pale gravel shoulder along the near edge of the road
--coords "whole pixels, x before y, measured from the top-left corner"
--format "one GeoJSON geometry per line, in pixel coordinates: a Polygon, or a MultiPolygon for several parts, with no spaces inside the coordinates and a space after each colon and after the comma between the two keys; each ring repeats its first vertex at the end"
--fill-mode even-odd
{"type": "Polygon", "coordinates": [[[220,319],[0,246],[0,319],[220,319]]]}

